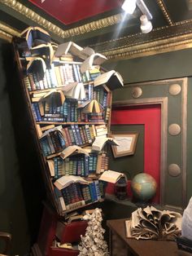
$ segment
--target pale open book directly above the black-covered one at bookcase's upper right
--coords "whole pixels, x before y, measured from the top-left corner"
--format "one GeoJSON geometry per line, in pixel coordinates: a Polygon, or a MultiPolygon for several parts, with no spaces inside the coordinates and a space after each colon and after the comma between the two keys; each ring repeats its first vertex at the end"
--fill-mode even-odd
{"type": "Polygon", "coordinates": [[[94,53],[93,55],[90,55],[89,58],[84,60],[84,62],[81,64],[81,73],[85,73],[86,70],[93,69],[94,65],[103,64],[105,60],[107,60],[106,56],[100,53],[94,53]]]}

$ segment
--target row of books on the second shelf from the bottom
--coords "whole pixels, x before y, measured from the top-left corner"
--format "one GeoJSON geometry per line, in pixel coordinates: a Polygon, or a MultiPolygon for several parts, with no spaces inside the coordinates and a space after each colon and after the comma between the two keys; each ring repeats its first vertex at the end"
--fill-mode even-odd
{"type": "Polygon", "coordinates": [[[106,153],[89,153],[89,156],[78,154],[67,157],[54,157],[49,161],[50,175],[59,179],[63,175],[77,175],[82,177],[95,176],[104,170],[108,170],[108,157],[106,153]]]}

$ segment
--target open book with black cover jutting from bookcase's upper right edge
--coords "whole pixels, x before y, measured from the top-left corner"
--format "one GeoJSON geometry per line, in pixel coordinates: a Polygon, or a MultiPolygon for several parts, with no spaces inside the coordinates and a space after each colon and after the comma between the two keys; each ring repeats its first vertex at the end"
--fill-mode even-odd
{"type": "Polygon", "coordinates": [[[94,86],[100,86],[103,84],[105,84],[110,90],[115,90],[124,86],[124,81],[120,76],[120,73],[115,70],[111,70],[94,79],[94,86]]]}

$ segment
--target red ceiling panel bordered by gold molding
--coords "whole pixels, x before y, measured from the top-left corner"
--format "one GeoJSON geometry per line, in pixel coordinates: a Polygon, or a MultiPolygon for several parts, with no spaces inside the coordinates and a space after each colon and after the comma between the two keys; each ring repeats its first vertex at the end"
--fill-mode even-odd
{"type": "Polygon", "coordinates": [[[29,0],[63,24],[72,24],[120,7],[123,0],[29,0]]]}

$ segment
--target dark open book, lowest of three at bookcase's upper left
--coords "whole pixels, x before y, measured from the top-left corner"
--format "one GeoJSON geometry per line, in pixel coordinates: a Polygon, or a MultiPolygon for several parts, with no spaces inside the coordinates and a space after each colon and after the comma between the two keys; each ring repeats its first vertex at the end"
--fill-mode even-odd
{"type": "MultiPolygon", "coordinates": [[[[28,60],[28,58],[26,58],[28,60]]],[[[36,73],[40,80],[43,79],[46,73],[46,63],[41,57],[29,58],[27,64],[27,73],[36,73]]]]}

